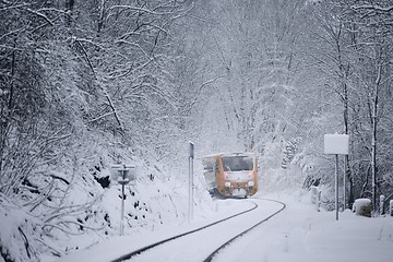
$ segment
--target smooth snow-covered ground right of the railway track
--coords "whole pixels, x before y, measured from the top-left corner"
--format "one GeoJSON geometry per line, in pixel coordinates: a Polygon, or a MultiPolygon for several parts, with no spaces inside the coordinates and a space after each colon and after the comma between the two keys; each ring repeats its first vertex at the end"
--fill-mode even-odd
{"type": "Polygon", "coordinates": [[[317,212],[308,198],[271,195],[287,209],[223,252],[217,261],[393,261],[393,217],[357,216],[349,210],[317,212]]]}

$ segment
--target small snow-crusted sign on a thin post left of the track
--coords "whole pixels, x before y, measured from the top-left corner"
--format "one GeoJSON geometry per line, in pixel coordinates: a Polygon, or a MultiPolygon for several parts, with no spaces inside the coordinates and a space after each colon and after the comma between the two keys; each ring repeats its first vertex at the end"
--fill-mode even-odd
{"type": "Polygon", "coordinates": [[[111,166],[111,177],[112,180],[121,184],[121,218],[120,218],[120,236],[123,235],[124,230],[124,187],[131,181],[136,179],[136,168],[131,165],[112,165],[111,166]]]}

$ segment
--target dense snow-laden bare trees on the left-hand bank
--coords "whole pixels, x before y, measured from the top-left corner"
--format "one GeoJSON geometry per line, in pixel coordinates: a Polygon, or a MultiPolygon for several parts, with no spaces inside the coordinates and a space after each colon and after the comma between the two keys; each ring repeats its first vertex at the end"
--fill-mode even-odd
{"type": "MultiPolygon", "coordinates": [[[[95,172],[124,158],[158,160],[176,140],[170,26],[192,4],[0,2],[0,200],[37,218],[35,240],[97,228],[78,217],[99,200],[95,172]],[[72,198],[75,184],[86,198],[72,198]]],[[[17,259],[1,237],[1,257],[17,259]]]]}

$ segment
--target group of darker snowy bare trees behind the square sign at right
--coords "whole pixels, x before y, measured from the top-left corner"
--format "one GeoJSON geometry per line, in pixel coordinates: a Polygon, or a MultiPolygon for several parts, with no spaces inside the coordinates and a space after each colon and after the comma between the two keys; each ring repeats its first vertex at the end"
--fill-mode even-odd
{"type": "Polygon", "coordinates": [[[382,186],[391,174],[385,168],[391,135],[384,127],[392,98],[392,8],[389,1],[332,0],[311,9],[318,47],[323,47],[312,56],[327,78],[326,86],[342,103],[342,130],[352,138],[352,153],[344,164],[348,202],[353,203],[355,191],[372,196],[377,209],[377,194],[392,193],[391,187],[382,186]]]}

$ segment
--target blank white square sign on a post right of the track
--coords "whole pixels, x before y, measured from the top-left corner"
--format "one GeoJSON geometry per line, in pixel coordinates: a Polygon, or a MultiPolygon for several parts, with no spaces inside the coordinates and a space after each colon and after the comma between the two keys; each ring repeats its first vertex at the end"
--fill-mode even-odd
{"type": "MultiPolygon", "coordinates": [[[[347,155],[349,153],[349,135],[325,134],[324,153],[330,155],[335,155],[335,211],[336,211],[336,221],[338,221],[338,155],[347,155]]],[[[345,190],[345,184],[344,184],[344,190],[345,190]]]]}

